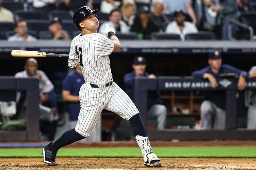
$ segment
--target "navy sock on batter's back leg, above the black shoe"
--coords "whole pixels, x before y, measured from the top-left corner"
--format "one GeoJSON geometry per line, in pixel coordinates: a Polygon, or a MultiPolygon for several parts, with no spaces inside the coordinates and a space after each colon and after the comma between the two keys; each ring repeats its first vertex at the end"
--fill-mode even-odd
{"type": "Polygon", "coordinates": [[[57,152],[61,147],[72,144],[78,140],[84,139],[82,135],[76,132],[75,129],[70,129],[64,132],[59,139],[50,145],[50,150],[57,152]]]}

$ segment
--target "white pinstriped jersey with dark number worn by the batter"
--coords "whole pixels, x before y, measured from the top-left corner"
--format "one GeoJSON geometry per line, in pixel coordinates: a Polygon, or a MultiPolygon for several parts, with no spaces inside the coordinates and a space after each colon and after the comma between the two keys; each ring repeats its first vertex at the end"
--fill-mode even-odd
{"type": "Polygon", "coordinates": [[[114,42],[103,34],[79,34],[71,42],[69,58],[79,60],[86,82],[108,83],[112,80],[108,55],[113,49],[114,42]]]}

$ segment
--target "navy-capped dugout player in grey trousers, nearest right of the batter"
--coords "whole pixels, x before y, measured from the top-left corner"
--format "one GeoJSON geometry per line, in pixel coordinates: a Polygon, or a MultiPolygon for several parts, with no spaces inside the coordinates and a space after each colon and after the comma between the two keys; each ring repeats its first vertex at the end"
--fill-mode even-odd
{"type": "MultiPolygon", "coordinates": [[[[143,56],[137,56],[133,59],[132,68],[133,71],[131,73],[127,73],[124,75],[124,85],[126,87],[126,94],[132,99],[132,82],[135,77],[148,77],[148,78],[156,78],[154,74],[149,74],[146,72],[146,59],[143,56]]],[[[162,105],[162,100],[160,99],[159,92],[148,92],[148,118],[156,118],[157,119],[157,129],[164,129],[166,124],[166,115],[167,108],[162,105]]],[[[115,121],[110,129],[111,132],[116,132],[117,127],[119,126],[122,118],[120,116],[116,116],[115,121]]]]}

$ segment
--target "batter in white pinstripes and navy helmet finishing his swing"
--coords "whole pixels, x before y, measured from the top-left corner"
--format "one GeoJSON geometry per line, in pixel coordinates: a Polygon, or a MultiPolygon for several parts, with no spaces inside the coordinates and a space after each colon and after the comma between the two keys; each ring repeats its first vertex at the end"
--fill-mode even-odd
{"type": "Polygon", "coordinates": [[[127,94],[113,82],[109,57],[112,51],[121,48],[120,42],[113,28],[106,26],[103,33],[97,33],[99,21],[98,10],[91,10],[84,6],[73,15],[73,23],[81,34],[71,42],[68,66],[76,68],[78,64],[84,75],[85,83],[79,91],[80,113],[75,129],[63,133],[54,143],[45,146],[42,151],[44,162],[56,166],[57,151],[68,144],[90,136],[105,108],[130,122],[132,134],[139,144],[144,165],[160,167],[161,162],[152,152],[140,114],[127,94]]]}

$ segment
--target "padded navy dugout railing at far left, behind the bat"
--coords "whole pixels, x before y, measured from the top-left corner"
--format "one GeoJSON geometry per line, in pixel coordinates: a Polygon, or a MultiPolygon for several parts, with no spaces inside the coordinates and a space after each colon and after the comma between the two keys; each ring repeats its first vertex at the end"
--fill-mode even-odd
{"type": "Polygon", "coordinates": [[[38,141],[38,79],[0,76],[0,82],[0,90],[2,91],[26,91],[26,130],[0,130],[0,141],[38,141]]]}

